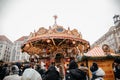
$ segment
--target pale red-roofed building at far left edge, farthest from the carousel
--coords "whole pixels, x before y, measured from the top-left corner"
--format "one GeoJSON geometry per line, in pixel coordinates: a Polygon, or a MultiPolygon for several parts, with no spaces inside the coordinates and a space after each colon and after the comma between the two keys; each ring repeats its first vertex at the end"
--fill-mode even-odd
{"type": "Polygon", "coordinates": [[[6,36],[0,35],[0,60],[9,62],[13,43],[6,36]]]}

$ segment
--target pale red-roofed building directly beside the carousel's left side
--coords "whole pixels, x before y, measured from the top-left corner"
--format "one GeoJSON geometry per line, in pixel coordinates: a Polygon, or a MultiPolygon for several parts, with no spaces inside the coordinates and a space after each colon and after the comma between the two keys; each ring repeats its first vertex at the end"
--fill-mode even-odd
{"type": "Polygon", "coordinates": [[[23,36],[16,40],[13,44],[12,48],[12,61],[24,61],[27,60],[29,61],[29,55],[27,53],[22,53],[21,52],[21,45],[28,39],[27,36],[23,36]]]}

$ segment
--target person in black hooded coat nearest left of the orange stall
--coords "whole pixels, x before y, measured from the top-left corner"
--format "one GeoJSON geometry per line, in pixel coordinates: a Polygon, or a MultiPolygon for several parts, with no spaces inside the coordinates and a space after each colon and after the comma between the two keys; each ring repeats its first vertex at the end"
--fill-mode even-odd
{"type": "Polygon", "coordinates": [[[66,80],[86,80],[86,73],[78,69],[78,64],[72,60],[65,77],[66,80]]]}

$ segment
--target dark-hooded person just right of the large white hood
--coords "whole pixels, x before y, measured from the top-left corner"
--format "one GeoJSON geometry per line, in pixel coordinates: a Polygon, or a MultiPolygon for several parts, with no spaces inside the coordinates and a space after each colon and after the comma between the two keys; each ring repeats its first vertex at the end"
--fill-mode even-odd
{"type": "Polygon", "coordinates": [[[61,80],[59,72],[56,70],[56,67],[51,65],[46,71],[43,80],[61,80]]]}

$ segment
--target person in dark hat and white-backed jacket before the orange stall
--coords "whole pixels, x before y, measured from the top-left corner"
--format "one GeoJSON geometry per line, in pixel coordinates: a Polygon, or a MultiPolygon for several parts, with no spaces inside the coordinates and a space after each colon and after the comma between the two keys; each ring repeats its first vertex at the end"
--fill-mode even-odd
{"type": "Polygon", "coordinates": [[[105,72],[102,68],[98,67],[97,63],[92,64],[90,71],[92,72],[91,80],[104,80],[105,72]]]}

